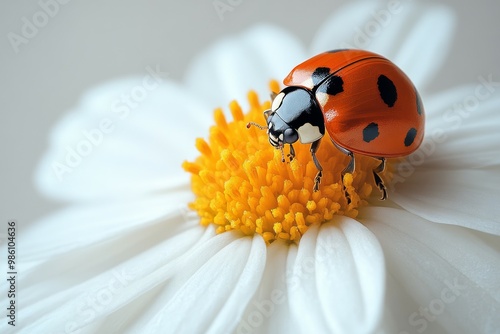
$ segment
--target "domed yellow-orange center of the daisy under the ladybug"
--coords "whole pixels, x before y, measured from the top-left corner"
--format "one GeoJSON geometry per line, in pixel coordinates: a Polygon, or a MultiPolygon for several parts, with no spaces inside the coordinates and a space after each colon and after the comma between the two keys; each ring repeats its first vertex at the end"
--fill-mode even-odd
{"type": "MultiPolygon", "coordinates": [[[[279,91],[278,83],[272,82],[271,88],[279,91]]],[[[198,213],[201,224],[215,224],[217,233],[258,233],[269,244],[276,239],[298,242],[309,226],[327,222],[333,215],[356,217],[375,188],[372,170],[379,161],[356,155],[356,170],[343,180],[351,199],[348,203],[340,178],[349,158],[326,134],[316,154],[323,177],[319,190],[313,192],[317,169],[310,145],[296,143],[295,159],[282,162],[281,151],[269,144],[266,131],[246,127],[249,122],[265,124],[263,112],[270,102],[260,103],[253,91],[248,101],[246,114],[236,101],[230,103],[231,122],[222,109],[216,109],[208,141],[196,139],[201,155],[182,165],[192,174],[196,199],[190,208],[198,213]]],[[[386,181],[388,174],[383,174],[386,181]]]]}

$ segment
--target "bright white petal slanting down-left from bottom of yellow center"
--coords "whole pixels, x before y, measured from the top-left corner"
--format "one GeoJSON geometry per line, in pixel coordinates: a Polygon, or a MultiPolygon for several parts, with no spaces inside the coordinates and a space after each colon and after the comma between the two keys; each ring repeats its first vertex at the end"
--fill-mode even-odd
{"type": "Polygon", "coordinates": [[[157,311],[144,331],[232,332],[258,287],[265,253],[260,236],[239,238],[224,247],[157,311]]]}

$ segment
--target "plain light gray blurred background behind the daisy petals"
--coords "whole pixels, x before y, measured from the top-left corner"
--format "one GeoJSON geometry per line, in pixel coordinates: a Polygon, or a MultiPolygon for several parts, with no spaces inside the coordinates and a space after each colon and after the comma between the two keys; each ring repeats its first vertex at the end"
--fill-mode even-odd
{"type": "MultiPolygon", "coordinates": [[[[308,44],[324,19],[345,2],[241,0],[221,21],[213,0],[71,0],[16,54],[7,34],[20,34],[22,18],[31,21],[40,5],[2,1],[0,220],[28,223],[61,206],[36,192],[33,171],[51,127],[88,88],[143,74],[150,64],[160,64],[170,78],[180,80],[190,60],[214,40],[259,21],[274,22],[308,44]]],[[[453,56],[431,88],[477,82],[479,75],[492,74],[500,81],[500,2],[436,2],[455,10],[458,27],[453,56]]]]}

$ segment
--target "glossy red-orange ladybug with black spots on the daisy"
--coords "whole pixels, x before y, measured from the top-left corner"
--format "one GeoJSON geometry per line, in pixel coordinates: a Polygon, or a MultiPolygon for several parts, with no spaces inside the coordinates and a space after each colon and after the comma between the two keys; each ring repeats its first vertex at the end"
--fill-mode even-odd
{"type": "Polygon", "coordinates": [[[269,143],[281,150],[283,161],[285,144],[290,145],[291,159],[295,156],[293,143],[311,144],[318,170],[313,191],[319,189],[323,171],[316,151],[328,131],[335,147],[350,157],[341,180],[354,171],[354,153],[379,159],[373,177],[381,200],[386,199],[379,175],[386,158],[409,155],[424,136],[422,101],[403,71],[378,54],[341,49],[297,65],[283,83],[286,87],[272,94],[271,109],[264,112],[267,127],[247,126],[267,129],[269,143]]]}

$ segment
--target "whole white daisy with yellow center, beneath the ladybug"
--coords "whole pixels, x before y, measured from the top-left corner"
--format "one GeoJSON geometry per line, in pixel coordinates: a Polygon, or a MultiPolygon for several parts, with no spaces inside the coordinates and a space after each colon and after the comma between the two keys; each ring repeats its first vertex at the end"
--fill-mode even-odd
{"type": "Polygon", "coordinates": [[[183,84],[151,66],[90,91],[37,173],[71,205],[21,231],[17,332],[498,332],[500,84],[425,90],[453,24],[440,6],[356,2],[307,49],[259,25],[200,55],[183,84]],[[385,202],[370,195],[369,158],[346,183],[348,205],[333,179],[345,157],[326,141],[312,193],[305,145],[282,164],[265,133],[244,128],[269,107],[257,97],[269,79],[344,47],[393,60],[425,104],[425,141],[384,174],[385,202]],[[208,135],[210,111],[232,99],[242,107],[216,111],[208,135]]]}

